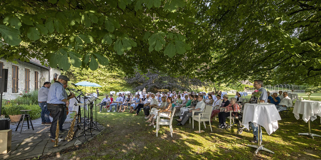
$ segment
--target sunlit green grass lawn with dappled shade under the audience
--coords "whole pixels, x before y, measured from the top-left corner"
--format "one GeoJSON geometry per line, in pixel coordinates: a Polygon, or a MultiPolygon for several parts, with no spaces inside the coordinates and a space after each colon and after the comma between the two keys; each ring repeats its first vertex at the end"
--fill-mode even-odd
{"type": "MultiPolygon", "coordinates": [[[[312,100],[320,100],[320,93],[313,94],[312,100]]],[[[301,96],[301,95],[299,95],[301,96]]],[[[307,98],[306,98],[307,99],[307,98]]],[[[291,113],[281,116],[279,129],[271,135],[263,130],[263,145],[275,154],[247,147],[253,138],[252,132],[237,133],[237,127],[225,130],[217,128],[218,120],[208,123],[203,133],[195,133],[192,124],[177,126],[173,121],[173,137],[169,127],[162,126],[156,137],[156,129],[145,123],[143,114],[103,111],[98,113],[98,122],[106,127],[80,149],[65,153],[55,159],[320,159],[321,137],[298,135],[308,132],[308,124],[296,120],[291,113]]],[[[321,135],[320,117],[311,123],[312,133],[321,135]]]]}

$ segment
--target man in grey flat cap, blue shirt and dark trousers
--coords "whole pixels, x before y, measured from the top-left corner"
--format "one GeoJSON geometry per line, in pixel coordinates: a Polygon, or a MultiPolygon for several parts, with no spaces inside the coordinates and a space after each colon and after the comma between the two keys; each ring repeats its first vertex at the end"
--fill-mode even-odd
{"type": "MultiPolygon", "coordinates": [[[[59,119],[59,124],[63,123],[63,114],[65,105],[68,106],[69,102],[67,97],[64,96],[65,88],[64,85],[68,83],[70,79],[66,76],[60,75],[58,80],[52,84],[48,92],[48,110],[53,117],[52,124],[50,127],[50,139],[55,142],[56,138],[56,127],[57,120],[59,119]]],[[[60,132],[62,133],[62,132],[60,132]]],[[[64,132],[65,133],[65,132],[64,132]]],[[[63,141],[64,139],[58,139],[58,141],[63,141]]]]}

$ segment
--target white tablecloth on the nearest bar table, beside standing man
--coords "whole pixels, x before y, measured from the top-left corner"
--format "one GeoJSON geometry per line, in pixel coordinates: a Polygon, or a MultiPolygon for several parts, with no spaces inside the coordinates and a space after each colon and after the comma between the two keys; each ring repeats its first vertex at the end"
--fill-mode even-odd
{"type": "Polygon", "coordinates": [[[246,103],[244,105],[242,123],[247,129],[248,122],[253,122],[254,126],[260,124],[264,127],[270,135],[279,128],[278,120],[281,120],[281,117],[274,104],[246,103]]]}

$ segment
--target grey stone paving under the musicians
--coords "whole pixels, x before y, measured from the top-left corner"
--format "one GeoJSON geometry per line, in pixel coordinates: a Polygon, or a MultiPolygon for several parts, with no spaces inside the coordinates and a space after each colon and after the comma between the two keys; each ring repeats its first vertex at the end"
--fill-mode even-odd
{"type": "MultiPolygon", "coordinates": [[[[52,120],[52,118],[51,118],[52,120]]],[[[92,136],[90,132],[86,132],[87,135],[83,136],[83,132],[78,131],[78,139],[74,139],[71,141],[62,141],[58,143],[58,147],[53,147],[54,142],[49,140],[50,137],[50,125],[41,125],[41,118],[32,120],[32,124],[34,130],[32,130],[31,126],[28,129],[27,126],[23,126],[22,132],[20,133],[20,127],[17,131],[15,131],[18,122],[11,122],[10,129],[12,130],[12,144],[11,144],[11,151],[7,154],[1,154],[0,159],[4,160],[16,160],[16,159],[25,159],[25,158],[32,158],[32,157],[41,157],[45,156],[57,151],[64,150],[65,148],[72,147],[74,145],[79,145],[85,142],[85,138],[87,140],[91,140],[94,135],[100,133],[100,131],[95,130],[96,127],[92,129],[92,136]]],[[[24,122],[27,125],[26,121],[24,122]]],[[[71,118],[68,115],[67,119],[65,120],[63,128],[69,130],[71,125],[71,118]]],[[[77,123],[75,124],[75,126],[77,123]]],[[[80,125],[80,124],[79,124],[80,125]]],[[[103,126],[97,123],[99,130],[105,129],[103,126]]],[[[83,126],[81,126],[83,129],[83,126]]],[[[60,134],[63,138],[66,137],[67,133],[60,134]]]]}

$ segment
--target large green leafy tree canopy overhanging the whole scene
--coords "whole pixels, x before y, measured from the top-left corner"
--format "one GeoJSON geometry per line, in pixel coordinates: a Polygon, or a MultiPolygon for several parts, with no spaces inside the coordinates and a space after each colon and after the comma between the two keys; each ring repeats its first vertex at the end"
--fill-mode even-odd
{"type": "Polygon", "coordinates": [[[0,2],[1,56],[226,83],[320,84],[321,1],[0,2]],[[70,59],[70,62],[69,60],[70,59]]]}

